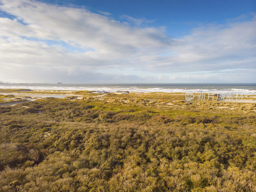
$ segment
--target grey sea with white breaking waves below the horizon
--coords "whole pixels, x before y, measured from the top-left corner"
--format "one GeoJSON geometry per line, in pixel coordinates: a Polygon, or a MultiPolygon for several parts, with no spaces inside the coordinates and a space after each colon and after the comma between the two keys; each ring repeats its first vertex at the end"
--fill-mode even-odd
{"type": "Polygon", "coordinates": [[[129,92],[199,92],[225,94],[256,94],[256,83],[225,84],[0,84],[0,88],[24,88],[32,90],[88,90],[129,92]]]}

